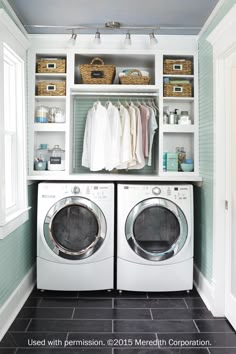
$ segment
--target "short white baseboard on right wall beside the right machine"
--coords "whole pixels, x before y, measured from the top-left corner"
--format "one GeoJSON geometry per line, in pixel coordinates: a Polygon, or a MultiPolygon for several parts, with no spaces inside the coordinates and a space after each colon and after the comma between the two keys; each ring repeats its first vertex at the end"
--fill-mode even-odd
{"type": "Polygon", "coordinates": [[[206,307],[212,312],[214,308],[214,287],[196,265],[194,265],[193,282],[206,307]]]}

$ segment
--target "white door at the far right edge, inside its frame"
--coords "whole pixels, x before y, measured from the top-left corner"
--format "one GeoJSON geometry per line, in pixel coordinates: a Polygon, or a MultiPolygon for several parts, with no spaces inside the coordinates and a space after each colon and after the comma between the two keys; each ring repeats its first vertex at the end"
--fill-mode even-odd
{"type": "Polygon", "coordinates": [[[225,316],[236,329],[236,54],[231,55],[226,62],[228,62],[226,66],[228,123],[226,169],[228,173],[226,175],[225,316]]]}

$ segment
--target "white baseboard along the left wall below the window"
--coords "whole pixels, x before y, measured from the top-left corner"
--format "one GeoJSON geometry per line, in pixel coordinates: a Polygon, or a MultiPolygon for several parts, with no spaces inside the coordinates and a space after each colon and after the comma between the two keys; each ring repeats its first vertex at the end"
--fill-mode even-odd
{"type": "Polygon", "coordinates": [[[8,300],[0,307],[0,341],[21,310],[35,285],[35,265],[28,271],[8,300]]]}

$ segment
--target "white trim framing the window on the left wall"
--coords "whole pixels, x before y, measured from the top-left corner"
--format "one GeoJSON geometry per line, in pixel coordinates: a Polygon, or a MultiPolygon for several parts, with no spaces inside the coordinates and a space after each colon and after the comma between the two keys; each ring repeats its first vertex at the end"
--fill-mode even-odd
{"type": "MultiPolygon", "coordinates": [[[[17,25],[11,20],[3,9],[0,9],[0,76],[3,77],[4,73],[4,43],[10,49],[13,49],[14,53],[23,61],[22,73],[24,77],[24,91],[26,91],[26,51],[29,47],[29,41],[26,36],[19,30],[17,25]]],[[[0,114],[4,115],[4,82],[0,82],[0,114]]],[[[29,207],[28,207],[28,187],[27,187],[27,168],[26,168],[26,99],[25,93],[23,93],[22,100],[22,128],[21,135],[21,165],[22,173],[17,183],[17,188],[20,189],[20,203],[18,208],[12,213],[7,213],[5,208],[5,172],[0,175],[0,240],[11,234],[23,223],[29,219],[29,207]],[[19,187],[20,186],[20,187],[19,187]],[[4,200],[4,203],[3,203],[4,200]]],[[[0,148],[4,151],[4,139],[5,134],[4,120],[0,121],[0,148]]],[[[5,154],[0,156],[0,165],[5,166],[5,154]]]]}

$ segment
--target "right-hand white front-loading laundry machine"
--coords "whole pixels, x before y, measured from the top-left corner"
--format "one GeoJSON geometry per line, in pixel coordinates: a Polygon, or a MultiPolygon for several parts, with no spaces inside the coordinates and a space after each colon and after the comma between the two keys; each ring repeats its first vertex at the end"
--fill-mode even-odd
{"type": "Polygon", "coordinates": [[[118,184],[117,198],[117,289],[192,289],[192,186],[118,184]]]}

